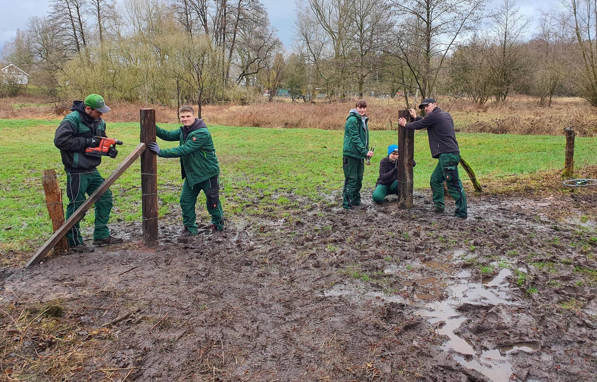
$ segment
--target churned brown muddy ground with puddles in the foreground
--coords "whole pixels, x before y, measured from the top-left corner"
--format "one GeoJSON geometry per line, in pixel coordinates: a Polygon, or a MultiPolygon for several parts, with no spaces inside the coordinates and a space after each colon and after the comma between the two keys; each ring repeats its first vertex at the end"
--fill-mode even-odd
{"type": "Polygon", "coordinates": [[[597,194],[469,197],[467,220],[429,199],[306,204],[187,243],[164,220],[155,250],[129,226],[5,269],[3,378],[595,381],[597,194]]]}

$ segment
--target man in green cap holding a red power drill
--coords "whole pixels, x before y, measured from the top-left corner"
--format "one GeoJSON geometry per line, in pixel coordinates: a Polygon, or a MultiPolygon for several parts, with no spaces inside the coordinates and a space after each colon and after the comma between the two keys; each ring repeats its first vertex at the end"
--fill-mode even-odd
{"type": "MultiPolygon", "coordinates": [[[[98,136],[106,136],[106,122],[101,114],[110,111],[104,99],[97,94],[90,94],[85,101],[73,101],[67,114],[60,122],[54,145],[60,149],[60,156],[66,171],[66,196],[69,204],[66,206],[66,219],[78,209],[86,200],[85,194],[91,195],[104,182],[96,166],[101,163],[101,156],[85,154],[87,147],[98,147],[98,136]]],[[[110,147],[109,156],[115,158],[118,151],[110,147]]],[[[93,244],[103,246],[122,243],[121,238],[110,235],[107,222],[112,211],[112,192],[107,190],[95,203],[96,221],[93,230],[93,244]]],[[[82,219],[82,218],[81,218],[82,219]]],[[[79,222],[81,220],[79,219],[79,222]]],[[[69,247],[75,252],[93,252],[91,246],[85,246],[76,222],[66,233],[69,247]]]]}

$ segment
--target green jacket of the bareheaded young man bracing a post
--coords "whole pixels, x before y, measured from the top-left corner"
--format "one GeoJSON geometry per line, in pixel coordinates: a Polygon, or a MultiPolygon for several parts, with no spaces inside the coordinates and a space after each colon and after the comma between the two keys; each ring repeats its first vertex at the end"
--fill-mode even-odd
{"type": "Polygon", "coordinates": [[[220,173],[216,148],[211,133],[202,119],[196,118],[189,128],[164,130],[156,126],[156,135],[164,141],[179,141],[179,147],[159,150],[162,158],[179,158],[180,173],[190,187],[220,173]]]}

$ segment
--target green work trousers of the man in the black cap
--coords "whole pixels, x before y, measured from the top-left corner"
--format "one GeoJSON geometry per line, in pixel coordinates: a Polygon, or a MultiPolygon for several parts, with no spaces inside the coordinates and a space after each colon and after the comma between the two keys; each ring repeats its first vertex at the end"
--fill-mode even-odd
{"type": "Polygon", "coordinates": [[[462,182],[458,178],[458,162],[460,162],[460,155],[455,153],[439,154],[438,165],[431,173],[431,181],[429,182],[431,190],[433,191],[433,203],[439,209],[445,209],[444,204],[444,181],[448,187],[450,196],[456,201],[456,210],[454,215],[464,218],[468,215],[466,208],[466,196],[464,195],[464,188],[462,182]]]}

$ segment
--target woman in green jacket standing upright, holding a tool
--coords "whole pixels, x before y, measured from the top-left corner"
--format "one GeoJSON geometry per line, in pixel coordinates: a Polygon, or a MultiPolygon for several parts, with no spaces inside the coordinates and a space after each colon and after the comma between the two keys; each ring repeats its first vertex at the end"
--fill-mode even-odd
{"type": "Polygon", "coordinates": [[[367,103],[356,101],[344,125],[344,147],[342,148],[342,169],[344,170],[344,190],[342,207],[349,210],[361,205],[361,187],[365,170],[365,157],[373,157],[368,149],[369,129],[367,126],[367,103]]]}

